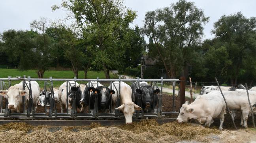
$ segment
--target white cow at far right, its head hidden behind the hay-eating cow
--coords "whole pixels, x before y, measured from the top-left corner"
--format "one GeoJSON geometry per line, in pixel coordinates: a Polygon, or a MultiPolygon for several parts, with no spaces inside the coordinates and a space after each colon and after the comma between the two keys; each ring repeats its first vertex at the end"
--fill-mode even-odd
{"type": "MultiPolygon", "coordinates": [[[[216,91],[215,91],[216,92],[216,91]]],[[[248,91],[249,97],[250,97],[250,103],[253,107],[253,112],[256,112],[256,92],[255,91],[248,91]]],[[[217,92],[220,94],[220,92],[217,92]]],[[[241,125],[247,128],[247,119],[248,114],[251,113],[250,105],[248,103],[248,97],[246,90],[235,90],[233,92],[230,91],[224,91],[223,92],[228,107],[230,110],[240,110],[242,112],[241,114],[241,125]]]]}

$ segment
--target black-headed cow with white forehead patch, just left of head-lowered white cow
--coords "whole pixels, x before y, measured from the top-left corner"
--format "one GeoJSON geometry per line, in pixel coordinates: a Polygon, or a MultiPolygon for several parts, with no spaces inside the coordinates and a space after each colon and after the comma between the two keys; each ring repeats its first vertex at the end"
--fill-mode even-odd
{"type": "Polygon", "coordinates": [[[114,90],[109,89],[107,86],[98,86],[98,88],[90,87],[92,94],[90,95],[90,109],[94,110],[95,98],[98,98],[98,111],[107,113],[111,102],[110,95],[115,94],[114,90]]]}

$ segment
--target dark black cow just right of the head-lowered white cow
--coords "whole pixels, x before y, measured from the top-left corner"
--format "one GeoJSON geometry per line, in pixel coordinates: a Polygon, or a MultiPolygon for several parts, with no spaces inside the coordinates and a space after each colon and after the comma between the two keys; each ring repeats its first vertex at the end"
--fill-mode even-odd
{"type": "Polygon", "coordinates": [[[155,112],[154,109],[156,108],[156,105],[158,103],[158,97],[156,94],[160,92],[159,89],[154,90],[154,88],[147,84],[147,82],[140,82],[138,88],[138,82],[135,82],[135,84],[132,85],[132,88],[134,89],[135,93],[135,100],[134,103],[138,104],[138,96],[141,95],[141,104],[142,109],[144,112],[155,112]]]}

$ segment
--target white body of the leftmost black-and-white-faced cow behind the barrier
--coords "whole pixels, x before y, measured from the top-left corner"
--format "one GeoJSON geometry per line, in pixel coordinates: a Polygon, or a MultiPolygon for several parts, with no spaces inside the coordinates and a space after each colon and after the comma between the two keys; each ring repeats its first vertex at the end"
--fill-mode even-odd
{"type": "MultiPolygon", "coordinates": [[[[75,85],[75,82],[74,81],[70,81],[70,85],[68,85],[69,87],[69,90],[71,90],[71,87],[75,85]]],[[[79,83],[76,83],[76,86],[79,86],[79,83]]],[[[66,108],[67,106],[67,83],[64,82],[60,85],[60,88],[58,90],[58,97],[60,99],[60,105],[61,105],[61,113],[64,112],[64,108],[66,108]]],[[[68,101],[71,101],[72,98],[68,97],[68,101]]],[[[72,105],[70,104],[70,102],[68,102],[68,109],[67,110],[71,110],[72,109],[72,105]]]]}

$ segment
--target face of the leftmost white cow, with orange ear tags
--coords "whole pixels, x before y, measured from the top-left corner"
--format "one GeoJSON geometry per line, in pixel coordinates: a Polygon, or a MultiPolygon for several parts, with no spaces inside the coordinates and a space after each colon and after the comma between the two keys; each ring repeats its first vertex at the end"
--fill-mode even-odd
{"type": "Polygon", "coordinates": [[[8,98],[8,109],[16,109],[19,105],[21,96],[27,95],[26,90],[19,90],[15,86],[11,86],[8,91],[0,90],[0,95],[8,98]]]}

